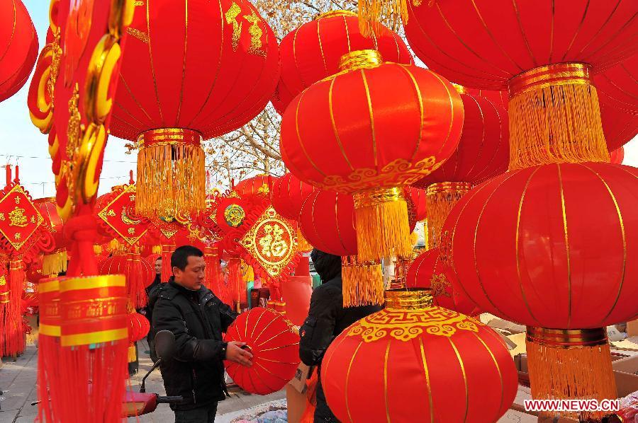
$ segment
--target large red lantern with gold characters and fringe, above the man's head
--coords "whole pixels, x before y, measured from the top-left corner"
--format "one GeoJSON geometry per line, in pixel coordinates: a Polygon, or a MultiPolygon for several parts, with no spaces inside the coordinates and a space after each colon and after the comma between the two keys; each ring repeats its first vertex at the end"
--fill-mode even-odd
{"type": "Polygon", "coordinates": [[[272,97],[276,38],[245,0],[135,3],[111,132],[138,141],[138,211],[206,208],[201,140],[241,127],[272,97]]]}

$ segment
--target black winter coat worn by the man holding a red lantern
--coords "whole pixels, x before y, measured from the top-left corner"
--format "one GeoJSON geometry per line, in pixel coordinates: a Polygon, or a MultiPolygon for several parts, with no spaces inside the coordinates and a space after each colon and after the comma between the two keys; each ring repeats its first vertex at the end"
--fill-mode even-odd
{"type": "Polygon", "coordinates": [[[191,410],[225,399],[225,346],[222,332],[237,318],[237,313],[202,286],[189,291],[173,278],[162,284],[153,304],[155,333],[170,330],[175,335],[174,359],[159,366],[167,395],[184,400],[173,410],[191,410]]]}

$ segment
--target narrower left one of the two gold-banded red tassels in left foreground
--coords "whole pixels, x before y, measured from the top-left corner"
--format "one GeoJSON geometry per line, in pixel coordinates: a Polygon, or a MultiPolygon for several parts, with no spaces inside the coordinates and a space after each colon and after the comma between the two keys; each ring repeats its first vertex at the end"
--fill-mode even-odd
{"type": "Polygon", "coordinates": [[[60,400],[64,381],[60,377],[60,280],[40,279],[40,330],[38,335],[38,415],[41,422],[57,423],[60,419],[60,400]]]}

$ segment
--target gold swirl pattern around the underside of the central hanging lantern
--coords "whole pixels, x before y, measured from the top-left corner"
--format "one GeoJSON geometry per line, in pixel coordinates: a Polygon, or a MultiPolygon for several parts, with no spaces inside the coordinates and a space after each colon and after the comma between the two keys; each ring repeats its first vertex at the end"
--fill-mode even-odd
{"type": "Polygon", "coordinates": [[[397,158],[381,168],[380,171],[373,168],[359,168],[350,173],[347,178],[340,175],[328,175],[323,178],[323,181],[311,180],[308,182],[322,189],[352,193],[374,187],[411,185],[423,176],[430,175],[441,164],[437,163],[434,156],[424,158],[417,163],[397,158]]]}

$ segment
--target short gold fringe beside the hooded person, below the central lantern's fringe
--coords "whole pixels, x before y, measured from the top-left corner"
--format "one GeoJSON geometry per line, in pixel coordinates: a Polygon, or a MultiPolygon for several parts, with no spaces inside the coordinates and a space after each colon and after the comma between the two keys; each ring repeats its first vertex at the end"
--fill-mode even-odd
{"type": "Polygon", "coordinates": [[[384,272],[378,262],[359,262],[357,256],[341,259],[343,306],[358,307],[384,303],[384,272]]]}

